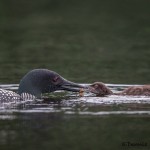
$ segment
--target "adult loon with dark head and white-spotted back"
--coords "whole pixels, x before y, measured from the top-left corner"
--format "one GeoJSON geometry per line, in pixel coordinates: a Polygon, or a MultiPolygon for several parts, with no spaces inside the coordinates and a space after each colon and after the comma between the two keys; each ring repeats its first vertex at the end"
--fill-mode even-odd
{"type": "Polygon", "coordinates": [[[68,81],[54,71],[48,69],[34,69],[21,79],[18,94],[0,89],[0,103],[41,98],[43,93],[56,90],[79,92],[80,88],[84,88],[84,86],[68,81]]]}

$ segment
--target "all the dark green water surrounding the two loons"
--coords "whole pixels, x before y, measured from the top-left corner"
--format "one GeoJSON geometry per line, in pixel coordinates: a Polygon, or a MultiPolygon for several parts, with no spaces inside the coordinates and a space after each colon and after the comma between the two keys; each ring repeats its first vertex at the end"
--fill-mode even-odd
{"type": "MultiPolygon", "coordinates": [[[[118,91],[150,83],[150,1],[1,0],[0,87],[29,70],[118,91]],[[120,85],[123,84],[123,85],[120,85]]],[[[0,107],[0,149],[150,149],[150,98],[56,92],[0,107]]]]}

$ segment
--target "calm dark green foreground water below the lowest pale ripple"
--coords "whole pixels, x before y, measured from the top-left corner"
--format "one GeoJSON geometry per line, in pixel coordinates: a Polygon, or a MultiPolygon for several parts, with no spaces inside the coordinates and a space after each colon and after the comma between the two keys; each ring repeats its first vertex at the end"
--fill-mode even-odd
{"type": "Polygon", "coordinates": [[[0,122],[0,144],[4,149],[22,150],[149,149],[148,119],[142,116],[22,115],[13,122],[9,120],[0,122]],[[123,142],[128,141],[146,142],[148,146],[122,146],[123,142]]]}

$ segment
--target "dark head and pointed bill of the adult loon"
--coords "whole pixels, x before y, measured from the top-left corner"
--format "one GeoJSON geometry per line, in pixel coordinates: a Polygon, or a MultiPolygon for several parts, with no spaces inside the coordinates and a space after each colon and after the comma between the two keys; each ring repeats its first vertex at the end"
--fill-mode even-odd
{"type": "Polygon", "coordinates": [[[79,92],[80,88],[84,86],[68,81],[54,71],[34,69],[21,79],[18,94],[28,93],[40,98],[42,93],[56,90],[79,92]]]}

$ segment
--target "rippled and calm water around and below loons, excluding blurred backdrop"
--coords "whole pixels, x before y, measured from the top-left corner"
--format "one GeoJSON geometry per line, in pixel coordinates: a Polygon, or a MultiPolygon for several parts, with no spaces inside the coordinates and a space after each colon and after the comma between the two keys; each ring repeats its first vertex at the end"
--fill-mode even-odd
{"type": "MultiPolygon", "coordinates": [[[[129,86],[108,85],[115,92],[129,86]]],[[[16,91],[18,85],[1,87],[16,91]]],[[[45,100],[1,107],[0,145],[2,149],[98,150],[142,143],[146,146],[140,148],[147,149],[149,109],[146,96],[95,97],[85,93],[79,97],[78,93],[58,91],[45,100]]]]}

